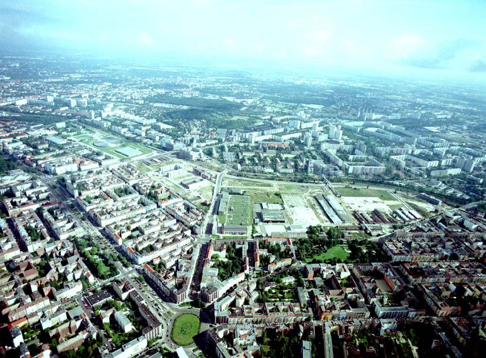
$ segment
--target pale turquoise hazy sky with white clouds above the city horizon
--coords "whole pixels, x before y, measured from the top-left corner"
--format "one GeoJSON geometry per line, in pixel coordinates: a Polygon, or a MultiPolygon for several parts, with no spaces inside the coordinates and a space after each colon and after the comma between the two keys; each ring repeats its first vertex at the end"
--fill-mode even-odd
{"type": "Polygon", "coordinates": [[[0,52],[486,73],[486,0],[0,0],[0,52]]]}

